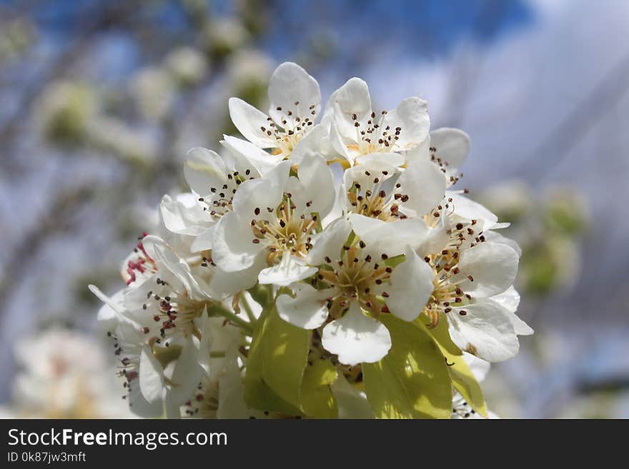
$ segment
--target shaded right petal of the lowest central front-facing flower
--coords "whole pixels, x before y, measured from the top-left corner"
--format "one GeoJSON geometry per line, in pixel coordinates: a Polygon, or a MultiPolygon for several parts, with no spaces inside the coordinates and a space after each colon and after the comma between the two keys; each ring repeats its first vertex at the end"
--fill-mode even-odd
{"type": "Polygon", "coordinates": [[[405,260],[391,274],[391,284],[381,286],[389,294],[387,308],[403,321],[413,321],[430,298],[434,279],[432,268],[407,246],[405,260]]]}

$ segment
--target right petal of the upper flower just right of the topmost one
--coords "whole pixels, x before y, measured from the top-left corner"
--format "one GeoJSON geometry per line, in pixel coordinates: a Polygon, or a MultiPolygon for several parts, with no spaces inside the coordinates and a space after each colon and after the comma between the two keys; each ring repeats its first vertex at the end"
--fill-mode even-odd
{"type": "Polygon", "coordinates": [[[400,127],[396,149],[404,151],[415,148],[428,136],[428,104],[419,98],[404,99],[396,109],[387,113],[381,125],[392,129],[400,127]]]}

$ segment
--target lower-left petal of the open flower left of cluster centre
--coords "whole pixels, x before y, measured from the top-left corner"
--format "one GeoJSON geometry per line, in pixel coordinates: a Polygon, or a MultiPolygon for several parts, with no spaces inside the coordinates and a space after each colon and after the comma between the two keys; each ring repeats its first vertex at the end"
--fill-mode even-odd
{"type": "Polygon", "coordinates": [[[254,244],[253,238],[249,221],[237,213],[227,213],[220,219],[214,231],[214,262],[227,272],[251,267],[258,253],[264,249],[264,244],[254,244]]]}

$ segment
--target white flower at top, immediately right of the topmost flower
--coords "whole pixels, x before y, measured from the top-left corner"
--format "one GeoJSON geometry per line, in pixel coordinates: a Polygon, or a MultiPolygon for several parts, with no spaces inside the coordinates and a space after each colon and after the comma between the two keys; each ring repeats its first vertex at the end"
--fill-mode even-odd
{"type": "Polygon", "coordinates": [[[367,84],[358,78],[332,94],[328,112],[333,116],[332,146],[351,166],[370,153],[412,150],[425,141],[430,128],[425,101],[407,98],[392,111],[376,112],[367,84]]]}

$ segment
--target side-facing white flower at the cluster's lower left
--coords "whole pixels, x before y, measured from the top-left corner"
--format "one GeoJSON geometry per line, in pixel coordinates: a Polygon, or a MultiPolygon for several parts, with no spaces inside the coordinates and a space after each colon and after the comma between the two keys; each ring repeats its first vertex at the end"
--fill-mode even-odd
{"type": "Polygon", "coordinates": [[[144,237],[142,254],[154,268],[142,283],[113,298],[90,289],[107,305],[99,316],[114,337],[129,405],[138,415],[157,416],[182,405],[207,366],[212,297],[207,281],[161,239],[144,237]]]}

